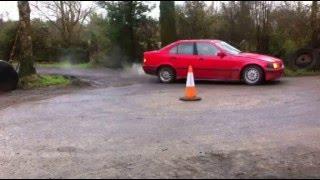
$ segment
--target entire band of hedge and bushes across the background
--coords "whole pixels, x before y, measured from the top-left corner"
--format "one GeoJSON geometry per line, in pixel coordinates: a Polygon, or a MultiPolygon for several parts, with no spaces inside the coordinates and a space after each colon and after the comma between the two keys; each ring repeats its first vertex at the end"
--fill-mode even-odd
{"type": "MultiPolygon", "coordinates": [[[[149,2],[96,2],[106,14],[97,11],[87,14],[91,8],[82,7],[80,13],[86,16],[81,17],[87,21],[82,22],[84,18],[77,21],[67,44],[69,35],[64,36],[61,31],[61,13],[42,10],[46,16],[59,18],[31,21],[34,60],[90,62],[119,68],[141,62],[143,52],[158,49],[160,41],[165,45],[174,39],[191,38],[221,39],[243,51],[286,59],[298,48],[311,45],[320,32],[320,13],[315,2],[188,1],[174,5],[169,1],[160,4],[159,20],[149,16],[154,8],[149,2]]],[[[0,19],[0,59],[8,60],[16,32],[17,22],[0,19]]]]}

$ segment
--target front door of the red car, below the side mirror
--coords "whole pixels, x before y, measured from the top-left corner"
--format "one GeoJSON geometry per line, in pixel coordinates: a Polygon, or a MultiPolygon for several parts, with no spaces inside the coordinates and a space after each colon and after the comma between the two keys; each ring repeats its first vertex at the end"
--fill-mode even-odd
{"type": "Polygon", "coordinates": [[[193,63],[195,73],[201,79],[229,80],[232,76],[232,57],[218,56],[220,52],[214,44],[197,42],[197,58],[193,63]]]}

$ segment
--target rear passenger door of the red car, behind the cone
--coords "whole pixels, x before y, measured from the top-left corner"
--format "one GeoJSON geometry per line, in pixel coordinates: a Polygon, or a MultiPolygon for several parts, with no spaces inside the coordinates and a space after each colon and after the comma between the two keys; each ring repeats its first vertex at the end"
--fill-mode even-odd
{"type": "Polygon", "coordinates": [[[174,66],[178,77],[186,77],[188,66],[196,59],[193,42],[179,43],[169,51],[170,64],[174,66]]]}

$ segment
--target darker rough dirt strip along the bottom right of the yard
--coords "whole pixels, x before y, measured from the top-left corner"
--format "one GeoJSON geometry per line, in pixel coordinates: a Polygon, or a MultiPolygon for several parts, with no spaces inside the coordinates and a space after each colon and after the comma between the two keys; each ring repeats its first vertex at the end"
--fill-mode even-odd
{"type": "Polygon", "coordinates": [[[167,159],[141,156],[121,158],[77,178],[164,178],[164,179],[292,179],[320,177],[320,150],[289,147],[281,151],[208,152],[197,156],[167,159]]]}

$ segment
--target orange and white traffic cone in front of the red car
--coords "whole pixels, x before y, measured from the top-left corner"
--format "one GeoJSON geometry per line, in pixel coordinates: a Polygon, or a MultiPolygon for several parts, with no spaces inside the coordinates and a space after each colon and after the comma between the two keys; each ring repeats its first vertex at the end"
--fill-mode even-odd
{"type": "Polygon", "coordinates": [[[194,84],[192,66],[189,66],[189,68],[188,68],[185,96],[181,97],[180,100],[182,100],[182,101],[199,101],[199,100],[201,100],[200,97],[197,97],[197,90],[196,90],[196,87],[194,84]]]}

